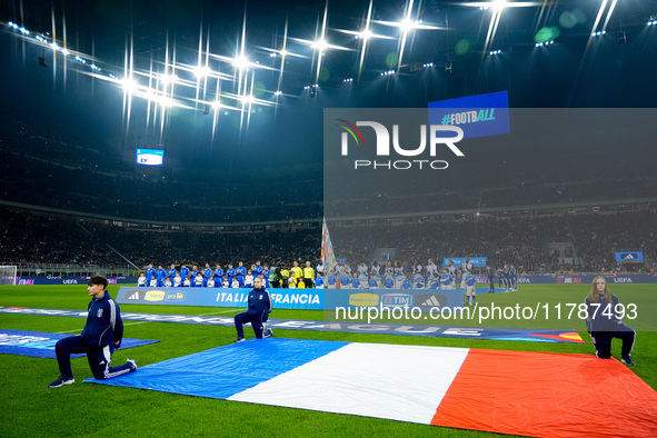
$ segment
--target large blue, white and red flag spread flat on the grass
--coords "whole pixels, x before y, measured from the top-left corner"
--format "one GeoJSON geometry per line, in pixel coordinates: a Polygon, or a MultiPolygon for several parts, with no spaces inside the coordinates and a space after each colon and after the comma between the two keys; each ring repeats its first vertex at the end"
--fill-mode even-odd
{"type": "Polygon", "coordinates": [[[657,436],[657,392],[615,359],[250,340],[88,381],[528,436],[657,436]]]}

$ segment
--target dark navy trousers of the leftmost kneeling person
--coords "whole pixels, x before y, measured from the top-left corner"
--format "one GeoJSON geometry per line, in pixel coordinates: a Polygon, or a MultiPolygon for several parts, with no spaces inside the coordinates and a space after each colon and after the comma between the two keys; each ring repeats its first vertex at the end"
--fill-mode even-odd
{"type": "Polygon", "coordinates": [[[112,360],[112,354],[115,352],[115,346],[109,345],[103,348],[90,348],[88,345],[82,342],[80,336],[70,336],[57,341],[54,345],[54,354],[57,355],[57,365],[59,365],[59,372],[64,379],[73,377],[71,370],[71,355],[87,354],[87,360],[89,367],[93,374],[93,378],[98,380],[109,379],[130,372],[130,364],[120,365],[118,367],[110,367],[109,364],[112,360]]]}

